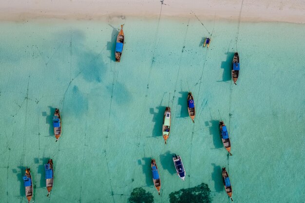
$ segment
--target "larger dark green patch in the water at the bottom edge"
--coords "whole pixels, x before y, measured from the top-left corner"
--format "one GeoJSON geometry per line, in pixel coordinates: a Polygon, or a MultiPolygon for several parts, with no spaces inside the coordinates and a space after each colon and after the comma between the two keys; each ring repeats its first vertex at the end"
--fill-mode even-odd
{"type": "Polygon", "coordinates": [[[181,189],[170,194],[170,203],[211,203],[208,184],[181,189]]]}

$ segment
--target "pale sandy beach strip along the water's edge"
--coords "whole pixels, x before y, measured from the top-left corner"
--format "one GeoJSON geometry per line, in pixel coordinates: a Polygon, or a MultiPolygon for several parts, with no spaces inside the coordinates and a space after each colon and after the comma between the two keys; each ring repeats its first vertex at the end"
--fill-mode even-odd
{"type": "Polygon", "coordinates": [[[304,0],[1,0],[1,20],[162,16],[305,23],[304,0]]]}

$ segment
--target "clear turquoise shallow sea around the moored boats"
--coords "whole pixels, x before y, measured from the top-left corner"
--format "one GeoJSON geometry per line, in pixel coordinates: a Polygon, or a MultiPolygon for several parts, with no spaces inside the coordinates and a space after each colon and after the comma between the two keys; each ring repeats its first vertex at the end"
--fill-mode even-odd
{"type": "Polygon", "coordinates": [[[305,25],[244,22],[238,30],[238,22],[202,22],[212,35],[209,49],[202,47],[209,33],[194,17],[1,22],[1,202],[26,202],[25,166],[39,203],[172,203],[179,194],[191,202],[191,191],[199,191],[201,202],[229,202],[222,167],[235,203],[304,202],[305,25]],[[115,63],[122,23],[126,43],[115,63]],[[237,86],[230,77],[236,51],[237,86]],[[172,129],[164,145],[168,105],[172,129]],[[233,156],[222,146],[218,111],[233,156]],[[183,159],[185,182],[175,174],[172,153],[183,159]],[[50,198],[48,158],[55,167],[50,198]]]}

